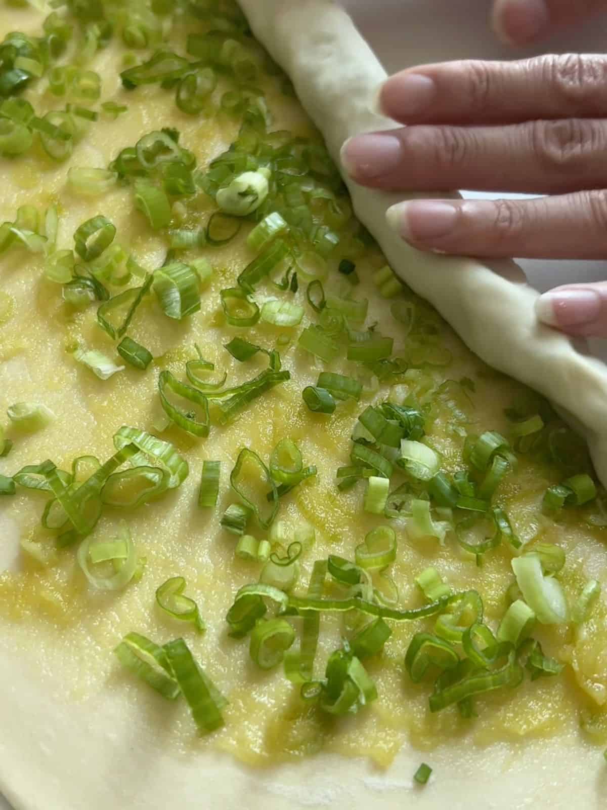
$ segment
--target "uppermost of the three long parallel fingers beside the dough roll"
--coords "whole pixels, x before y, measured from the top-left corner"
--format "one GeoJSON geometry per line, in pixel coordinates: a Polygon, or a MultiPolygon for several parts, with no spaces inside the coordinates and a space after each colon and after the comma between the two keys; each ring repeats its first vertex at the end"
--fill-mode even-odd
{"type": "Polygon", "coordinates": [[[422,65],[387,79],[377,105],[401,124],[602,117],[607,114],[607,56],[565,53],[517,62],[422,65]]]}

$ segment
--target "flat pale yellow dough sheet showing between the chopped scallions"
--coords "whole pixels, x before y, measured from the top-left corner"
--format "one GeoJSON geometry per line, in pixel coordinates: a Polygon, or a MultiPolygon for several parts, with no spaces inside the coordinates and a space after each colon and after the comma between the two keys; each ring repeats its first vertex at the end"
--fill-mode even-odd
{"type": "MultiPolygon", "coordinates": [[[[252,23],[257,23],[259,36],[271,47],[264,20],[256,16],[261,8],[258,2],[243,6],[252,23]]],[[[274,5],[268,2],[267,9],[274,5]]],[[[327,15],[323,18],[327,31],[337,22],[354,37],[347,19],[328,4],[284,7],[295,15],[295,5],[306,12],[302,18],[293,17],[287,25],[287,16],[277,17],[284,43],[293,26],[302,31],[312,27],[310,15],[316,12],[327,15]],[[333,14],[339,16],[333,19],[333,14]]],[[[276,10],[278,14],[278,6],[276,10]]],[[[39,26],[36,12],[2,7],[0,36],[13,29],[36,31],[39,26]]],[[[359,76],[363,81],[367,52],[359,40],[352,41],[362,48],[359,76]]],[[[276,55],[282,57],[278,49],[276,55]]],[[[345,57],[353,58],[354,53],[345,57]]],[[[285,64],[293,66],[288,60],[285,64]]],[[[236,136],[236,124],[216,126],[181,115],[172,94],[158,88],[132,95],[122,92],[117,79],[119,56],[113,48],[96,59],[94,69],[104,75],[103,99],[126,100],[129,112],[117,122],[94,126],[69,165],[106,166],[122,147],[160,126],[176,126],[182,143],[196,152],[199,164],[206,165],[236,136]]],[[[376,68],[371,66],[365,82],[372,84],[377,78],[376,68]]],[[[41,85],[40,95],[34,91],[40,105],[46,103],[44,82],[41,85]]],[[[300,87],[300,92],[304,101],[310,101],[312,96],[307,96],[305,88],[300,87]]],[[[277,129],[311,134],[308,119],[295,101],[281,100],[276,92],[269,100],[278,113],[277,129]]],[[[312,102],[310,105],[312,109],[312,102]]],[[[334,148],[335,143],[330,145],[334,148]]],[[[61,243],[68,246],[74,228],[103,212],[117,225],[120,241],[134,250],[142,264],[157,266],[163,259],[163,245],[151,237],[140,215],[133,213],[130,190],[83,201],[66,190],[67,168],[51,166],[36,153],[15,163],[2,161],[0,221],[13,219],[15,208],[24,202],[40,209],[57,203],[62,213],[61,243]]],[[[211,210],[209,202],[206,210],[202,207],[201,217],[211,210]]],[[[236,330],[223,326],[218,313],[219,290],[234,282],[252,254],[240,241],[207,257],[215,267],[215,277],[203,292],[202,312],[187,323],[169,322],[150,297],[138,312],[132,334],[156,357],[163,356],[160,367],[175,373],[183,369],[184,360],[193,357],[193,343],[197,342],[219,368],[227,365],[232,379],[238,379],[236,374],[248,377],[250,371],[227,364],[223,343],[236,330]]],[[[369,296],[370,322],[379,321],[382,332],[394,336],[398,351],[405,341],[370,279],[378,258],[381,261],[374,256],[371,263],[360,263],[363,282],[356,295],[369,296]]],[[[431,266],[420,267],[427,277],[434,271],[431,266]]],[[[112,435],[121,424],[151,426],[157,406],[156,370],[141,374],[127,369],[101,382],[65,351],[70,340],[85,339],[112,355],[112,343],[96,326],[94,308],[74,322],[66,322],[57,288],[41,279],[41,262],[25,254],[2,258],[0,280],[2,291],[15,299],[15,313],[0,331],[0,413],[15,401],[35,400],[57,416],[44,433],[15,441],[11,456],[0,460],[0,472],[10,474],[44,458],[53,458],[62,467],[69,467],[71,459],[80,454],[107,458],[112,452],[112,435]]],[[[448,327],[440,328],[454,355],[448,376],[476,379],[474,428],[479,433],[507,430],[502,408],[511,403],[519,386],[491,374],[448,327]]],[[[270,345],[278,334],[267,326],[257,326],[246,336],[270,345]]],[[[316,382],[320,364],[316,367],[293,343],[282,351],[282,358],[293,373],[291,382],[258,400],[231,428],[213,428],[210,437],[201,441],[174,429],[167,432],[188,459],[191,475],[179,492],[129,516],[138,548],[147,556],[147,568],[141,582],[120,594],[91,592],[74,569],[71,553],[54,556],[52,541],[45,541],[39,529],[44,497],[21,491],[0,502],[0,572],[4,571],[0,573],[0,791],[15,810],[602,807],[607,785],[601,750],[580,736],[575,706],[585,701],[596,709],[607,698],[602,657],[607,644],[601,644],[606,632],[604,607],[596,623],[588,625],[595,646],[588,647],[575,637],[563,639],[557,631],[545,634],[550,649],[551,645],[560,649],[567,641],[565,649],[572,663],[567,676],[526,684],[516,696],[499,696],[486,704],[481,701],[486,714],[469,731],[455,714],[428,718],[427,689],[405,684],[402,655],[417,628],[396,629],[388,642],[385,667],[377,675],[380,700],[357,717],[337,723],[335,729],[301,713],[294,689],[280,671],[256,671],[248,659],[247,642],[227,638],[224,616],[233,595],[258,573],[257,568],[235,561],[234,539],[218,527],[219,509],[231,501],[227,472],[240,447],[251,446],[267,458],[279,439],[291,437],[301,447],[304,462],[319,467],[318,481],[302,488],[280,515],[291,525],[305,519],[316,528],[316,547],[302,565],[303,582],[316,557],[326,556],[329,550],[352,556],[354,546],[377,523],[363,514],[359,490],[338,495],[333,482],[335,469],[347,463],[351,429],[362,407],[340,407],[331,420],[313,416],[299,392],[316,382]],[[209,515],[195,505],[204,458],[223,462],[219,507],[209,515]],[[42,568],[23,554],[19,538],[49,549],[49,567],[42,568]],[[185,576],[188,593],[197,599],[206,618],[209,629],[203,637],[176,627],[155,610],[155,588],[176,574],[185,576]],[[223,731],[210,739],[197,738],[183,703],[168,706],[120,671],[112,648],[133,629],[161,642],[185,634],[197,658],[230,700],[223,731]],[[592,650],[599,650],[594,657],[592,650]],[[299,734],[292,740],[291,727],[299,734]],[[442,738],[444,744],[437,746],[442,738]],[[321,744],[324,748],[315,756],[297,757],[299,751],[313,751],[321,744]],[[434,776],[427,787],[419,789],[414,787],[412,775],[424,760],[432,765],[434,776]],[[247,763],[265,767],[255,770],[247,763]]],[[[347,373],[347,366],[340,361],[334,370],[347,373]]],[[[383,386],[369,401],[380,401],[387,393],[388,387],[383,386]]],[[[459,450],[448,433],[448,416],[444,413],[439,418],[433,441],[453,469],[459,450]]],[[[523,467],[503,497],[516,513],[535,516],[541,493],[552,483],[545,471],[523,467]]],[[[118,517],[108,514],[99,531],[111,531],[118,517]]],[[[540,517],[536,523],[532,520],[538,537],[557,541],[567,549],[575,569],[571,588],[591,575],[605,584],[605,551],[598,532],[581,523],[556,526],[540,517]]],[[[486,566],[476,569],[453,547],[442,549],[434,541],[409,543],[403,531],[399,540],[394,577],[402,585],[403,604],[419,603],[410,583],[421,569],[436,565],[454,588],[475,586],[487,595],[490,620],[501,615],[501,595],[511,582],[506,549],[497,550],[486,566]]],[[[339,625],[330,619],[324,619],[323,625],[326,654],[334,646],[339,625]]]]}

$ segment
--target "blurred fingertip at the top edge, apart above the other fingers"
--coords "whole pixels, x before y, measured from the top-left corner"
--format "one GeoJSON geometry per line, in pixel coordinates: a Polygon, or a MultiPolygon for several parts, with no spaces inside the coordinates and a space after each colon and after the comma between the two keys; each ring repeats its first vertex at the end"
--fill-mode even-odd
{"type": "Polygon", "coordinates": [[[526,45],[601,9],[605,0],[495,0],[493,27],[510,45],[526,45]]]}

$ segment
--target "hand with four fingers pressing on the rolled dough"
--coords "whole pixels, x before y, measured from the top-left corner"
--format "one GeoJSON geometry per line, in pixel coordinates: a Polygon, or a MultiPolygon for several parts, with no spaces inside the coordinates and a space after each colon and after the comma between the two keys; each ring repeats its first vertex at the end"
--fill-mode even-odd
{"type": "MultiPolygon", "coordinates": [[[[406,241],[448,254],[607,258],[606,56],[417,67],[388,79],[378,104],[408,126],[344,145],[355,181],[551,195],[399,203],[388,220],[406,241]]],[[[607,337],[607,283],[550,291],[537,314],[572,335],[607,337]]]]}

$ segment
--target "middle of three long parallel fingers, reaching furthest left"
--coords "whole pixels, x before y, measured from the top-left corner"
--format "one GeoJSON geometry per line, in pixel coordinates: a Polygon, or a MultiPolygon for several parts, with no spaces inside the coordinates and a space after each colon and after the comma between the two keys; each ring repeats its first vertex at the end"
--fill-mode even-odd
{"type": "Polygon", "coordinates": [[[565,194],[607,185],[607,120],[407,126],[356,135],[342,162],[361,185],[565,194]]]}

